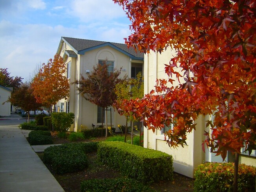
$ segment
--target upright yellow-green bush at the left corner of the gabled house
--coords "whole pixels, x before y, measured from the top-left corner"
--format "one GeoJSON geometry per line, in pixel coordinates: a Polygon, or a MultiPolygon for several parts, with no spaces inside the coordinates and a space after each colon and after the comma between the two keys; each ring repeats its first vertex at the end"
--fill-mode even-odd
{"type": "Polygon", "coordinates": [[[65,132],[74,123],[74,113],[52,113],[52,126],[56,131],[65,132]]]}

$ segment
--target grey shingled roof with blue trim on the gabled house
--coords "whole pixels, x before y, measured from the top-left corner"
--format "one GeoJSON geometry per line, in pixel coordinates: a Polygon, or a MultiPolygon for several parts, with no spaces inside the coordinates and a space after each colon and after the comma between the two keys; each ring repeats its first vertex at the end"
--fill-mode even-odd
{"type": "Polygon", "coordinates": [[[105,42],[105,41],[94,41],[88,39],[77,39],[71,37],[62,37],[62,40],[68,43],[76,54],[84,54],[89,50],[93,50],[95,48],[103,47],[103,46],[111,46],[122,53],[129,55],[130,57],[134,57],[137,59],[143,59],[144,54],[141,52],[135,52],[133,48],[128,48],[126,44],[115,43],[115,42],[105,42]]]}

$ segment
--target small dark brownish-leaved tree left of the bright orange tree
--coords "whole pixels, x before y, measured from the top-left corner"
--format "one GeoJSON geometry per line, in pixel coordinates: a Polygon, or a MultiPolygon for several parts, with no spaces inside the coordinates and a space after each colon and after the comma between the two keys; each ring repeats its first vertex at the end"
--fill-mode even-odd
{"type": "Polygon", "coordinates": [[[41,103],[37,103],[33,89],[28,83],[23,83],[20,87],[13,90],[7,102],[10,102],[15,107],[24,109],[24,111],[28,111],[28,122],[30,121],[29,111],[36,110],[42,106],[41,103]]]}

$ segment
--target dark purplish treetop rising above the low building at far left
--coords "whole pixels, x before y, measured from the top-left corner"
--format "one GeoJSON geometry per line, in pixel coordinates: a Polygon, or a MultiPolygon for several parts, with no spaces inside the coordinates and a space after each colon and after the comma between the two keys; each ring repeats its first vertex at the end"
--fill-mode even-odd
{"type": "Polygon", "coordinates": [[[11,77],[7,69],[8,68],[0,68],[0,85],[3,87],[20,87],[23,78],[18,76],[11,77]]]}

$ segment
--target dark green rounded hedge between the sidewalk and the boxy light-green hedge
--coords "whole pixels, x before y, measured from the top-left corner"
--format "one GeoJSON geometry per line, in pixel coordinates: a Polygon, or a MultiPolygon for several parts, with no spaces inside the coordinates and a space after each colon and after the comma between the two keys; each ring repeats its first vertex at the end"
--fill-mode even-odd
{"type": "Polygon", "coordinates": [[[88,167],[86,153],[96,151],[97,146],[98,142],[50,146],[44,152],[43,161],[57,174],[77,172],[88,167]]]}

